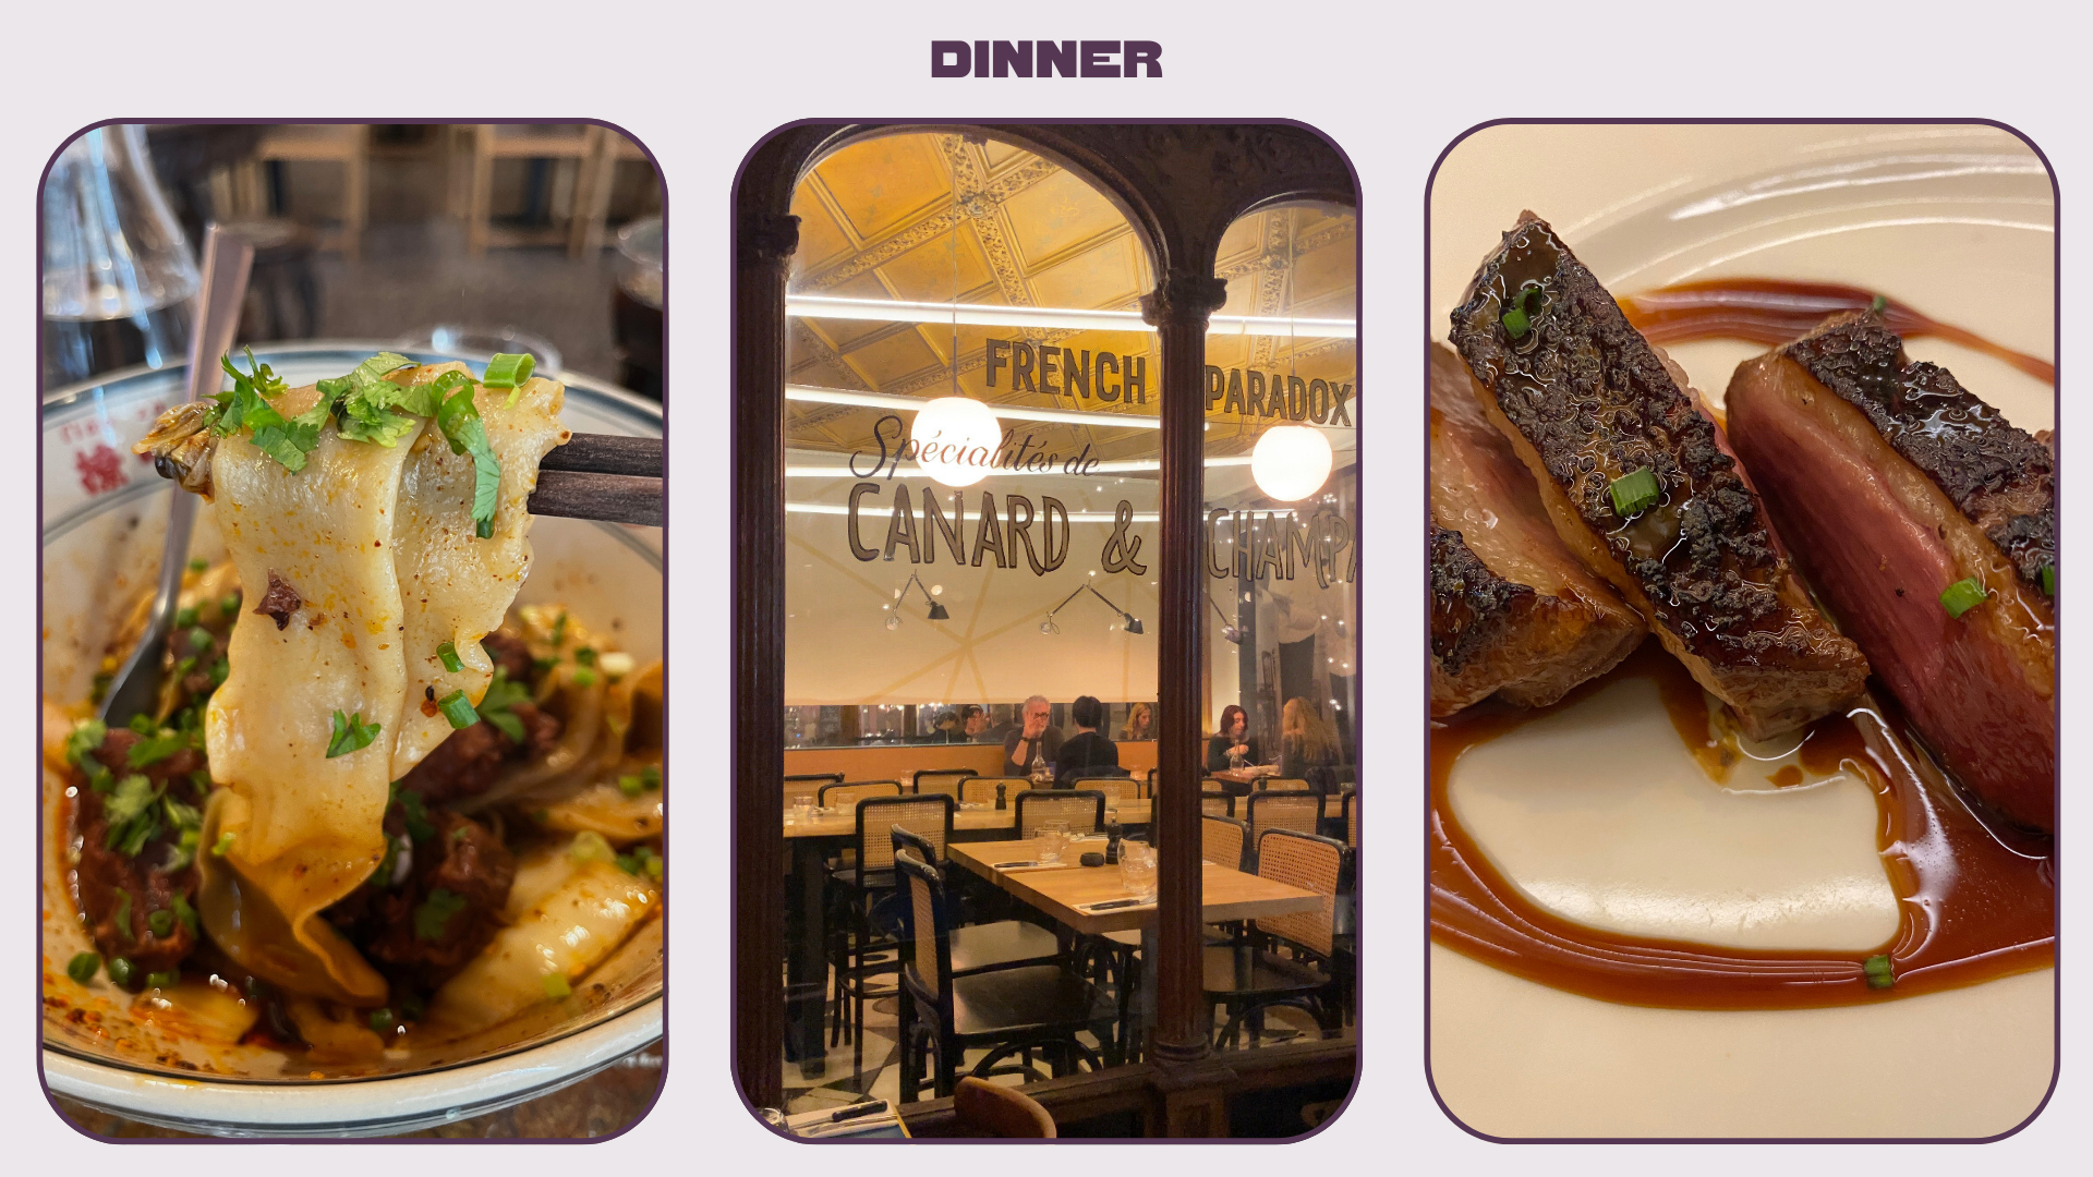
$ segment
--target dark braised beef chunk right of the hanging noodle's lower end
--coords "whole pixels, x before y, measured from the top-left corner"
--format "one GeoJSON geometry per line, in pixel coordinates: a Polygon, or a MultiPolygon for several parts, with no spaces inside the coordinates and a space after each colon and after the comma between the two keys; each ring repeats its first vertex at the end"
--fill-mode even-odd
{"type": "Polygon", "coordinates": [[[396,984],[423,991],[494,938],[515,882],[515,857],[492,829],[450,810],[429,823],[400,886],[373,878],[327,913],[396,984]]]}

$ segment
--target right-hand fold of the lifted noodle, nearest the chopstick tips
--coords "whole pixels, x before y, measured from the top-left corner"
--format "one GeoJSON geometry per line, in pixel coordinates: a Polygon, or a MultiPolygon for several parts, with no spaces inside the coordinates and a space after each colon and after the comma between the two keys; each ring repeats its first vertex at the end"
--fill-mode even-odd
{"type": "MultiPolygon", "coordinates": [[[[408,383],[427,383],[465,364],[417,369],[408,383]]],[[[402,379],[404,377],[393,377],[402,379]]],[[[450,720],[431,699],[465,691],[475,704],[488,693],[494,664],[479,639],[502,624],[509,603],[530,576],[530,492],[538,486],[538,461],[571,438],[559,410],[565,387],[548,379],[525,381],[515,408],[509,390],[475,387],[473,404],[488,427],[488,446],[502,465],[494,534],[473,534],[473,459],[454,454],[433,434],[408,457],[400,480],[400,519],[393,568],[400,572],[406,622],[406,697],[391,723],[393,779],[421,762],[450,737],[450,720]],[[444,670],[437,645],[452,643],[460,670],[444,670]],[[431,714],[433,712],[433,714],[431,714]]]]}

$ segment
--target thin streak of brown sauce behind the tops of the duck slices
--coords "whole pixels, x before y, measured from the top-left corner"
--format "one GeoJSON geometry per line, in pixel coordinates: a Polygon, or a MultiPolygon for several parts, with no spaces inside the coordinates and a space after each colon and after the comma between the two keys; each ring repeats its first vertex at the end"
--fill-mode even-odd
{"type": "MultiPolygon", "coordinates": [[[[1867,310],[1875,302],[1875,291],[1785,279],[1716,279],[1660,287],[1618,302],[1628,323],[1660,348],[1693,339],[1748,339],[1771,348],[1806,335],[1844,310],[1867,310]]],[[[1898,335],[1949,339],[2005,360],[2034,379],[2057,383],[2053,362],[1993,343],[1976,331],[1928,318],[1900,302],[1886,299],[1880,314],[1898,335]]]]}

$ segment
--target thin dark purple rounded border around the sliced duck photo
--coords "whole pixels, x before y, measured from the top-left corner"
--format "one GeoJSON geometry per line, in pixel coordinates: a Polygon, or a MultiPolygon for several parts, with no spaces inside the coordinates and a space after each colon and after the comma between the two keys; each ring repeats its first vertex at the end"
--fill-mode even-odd
{"type": "MultiPolygon", "coordinates": [[[[1425,245],[1425,258],[1423,258],[1423,341],[1425,343],[1430,343],[1430,339],[1432,339],[1432,320],[1434,320],[1434,308],[1432,308],[1432,186],[1434,186],[1434,182],[1438,182],[1438,172],[1446,163],[1446,157],[1453,155],[1453,151],[1457,147],[1461,147],[1463,142],[1467,142],[1469,136],[1473,136],[1478,132],[1484,132],[1488,128],[1494,128],[1494,126],[1988,126],[1988,128],[1997,128],[1997,130],[2003,130],[2003,132],[2011,134],[2020,142],[2026,142],[2028,151],[2032,151],[2034,157],[2043,161],[2043,170],[2049,172],[2049,197],[2051,197],[2051,207],[2055,209],[2053,212],[2053,216],[2055,216],[2055,220],[2053,220],[2055,235],[2053,235],[2053,241],[2051,241],[2051,258],[2053,258],[2051,260],[2051,281],[2055,283],[2055,291],[2051,295],[2051,299],[2053,299],[2051,302],[2051,306],[2053,306],[2053,316],[2051,316],[2051,354],[2055,356],[2055,360],[2060,364],[2057,367],[2057,373],[2060,373],[2057,383],[2051,387],[2051,413],[2053,413],[2053,419],[2055,419],[2055,415],[2062,413],[2062,408],[2064,408],[2064,396],[2062,396],[2062,390],[2064,390],[2064,381],[2062,381],[2062,371],[2064,371],[2062,369],[2062,362],[2064,362],[2064,249],[2062,249],[2062,241],[2064,241],[2064,226],[2062,226],[2062,220],[2064,220],[2064,201],[2062,201],[2062,195],[2057,191],[2057,170],[2055,170],[2055,165],[2049,163],[2049,155],[2045,155],[2043,149],[2032,138],[2028,138],[2026,134],[2022,134],[2020,128],[2003,124],[2003,121],[1997,121],[1997,119],[1972,119],[1972,117],[1944,117],[1944,119],[1831,119],[1831,117],[1827,117],[1827,119],[1570,119],[1570,117],[1563,117],[1563,119],[1555,119],[1555,117],[1522,119],[1522,117],[1507,117],[1507,119],[1490,119],[1490,121],[1476,124],[1476,126],[1463,130],[1461,134],[1457,134],[1453,138],[1453,142],[1448,142],[1440,151],[1438,159],[1432,161],[1432,172],[1425,176],[1425,191],[1423,191],[1423,214],[1425,214],[1423,216],[1423,220],[1425,220],[1425,237],[1423,237],[1423,245],[1425,245]]],[[[1423,398],[1419,398],[1417,448],[1419,448],[1419,457],[1423,459],[1419,463],[1421,469],[1423,469],[1423,475],[1419,478],[1419,482],[1423,484],[1423,503],[1425,503],[1425,513],[1430,517],[1430,511],[1432,511],[1432,507],[1430,507],[1430,503],[1432,503],[1432,396],[1430,396],[1430,387],[1432,387],[1432,350],[1430,350],[1430,346],[1421,348],[1417,358],[1419,358],[1419,369],[1417,371],[1419,371],[1419,381],[1421,381],[1419,387],[1423,387],[1427,392],[1423,398]]],[[[2062,434],[2057,434],[2057,436],[2062,440],[2062,434]]],[[[2062,490],[2062,484],[2064,484],[2064,465],[2062,463],[2057,463],[2057,475],[2055,478],[2057,478],[2057,486],[2062,490]]],[[[2057,519],[2060,519],[2060,532],[2057,534],[2062,534],[2064,496],[2057,494],[2055,503],[2057,503],[2057,519]]],[[[1421,545],[1417,549],[1417,553],[1419,553],[1419,565],[1421,568],[1430,568],[1430,545],[1432,545],[1430,528],[1419,528],[1419,538],[1421,538],[1421,545]]],[[[2060,576],[2062,576],[2062,570],[2060,570],[2060,576]]],[[[2055,605],[2057,605],[2057,656],[2060,656],[2057,664],[2062,668],[2062,653],[2064,653],[2064,624],[2062,624],[2064,622],[2064,597],[2062,595],[2057,595],[2055,605]]],[[[1421,632],[1425,637],[1425,649],[1430,649],[1432,647],[1432,593],[1430,593],[1430,588],[1423,595],[1423,616],[1419,620],[1419,628],[1421,628],[1421,632]]],[[[1432,699],[1432,660],[1430,658],[1425,658],[1425,664],[1423,664],[1423,685],[1425,685],[1423,697],[1427,699],[1427,706],[1425,706],[1425,729],[1423,729],[1425,731],[1425,741],[1423,741],[1423,756],[1421,756],[1421,769],[1423,769],[1423,773],[1421,773],[1419,781],[1430,781],[1432,779],[1432,712],[1430,712],[1430,699],[1432,699]]],[[[2053,706],[2057,708],[2057,716],[2062,718],[2062,714],[2064,714],[2064,676],[2062,674],[2057,674],[2057,697],[2053,699],[2053,706]]],[[[2060,792],[2060,800],[2062,800],[2062,781],[2064,781],[2064,756],[2062,756],[2062,750],[2060,750],[2060,754],[2057,754],[2057,767],[2055,767],[2055,779],[2051,781],[2051,787],[2060,792]]],[[[1430,829],[1432,829],[1432,790],[1421,790],[1421,798],[1419,800],[1421,800],[1419,831],[1423,831],[1430,838],[1430,829]]],[[[2051,980],[2051,993],[2053,993],[2051,1037],[2053,1037],[2053,1043],[2051,1043],[2051,1056],[2049,1056],[2049,1060],[2051,1060],[2049,1062],[2049,1089],[2043,1091],[2041,1102],[2034,1104],[2034,1110],[2028,1112],[2028,1116],[2024,1120],[2020,1120],[2018,1125],[2005,1129],[2003,1133],[1988,1135],[1988,1137],[1499,1137],[1499,1135],[1490,1135],[1490,1133],[1484,1133],[1484,1131],[1476,1131],[1467,1123],[1463,1123],[1461,1116],[1457,1116],[1453,1112],[1453,1108],[1446,1106],[1446,1100],[1440,1097],[1440,1091],[1438,1091],[1438,1079],[1434,1079],[1434,1074],[1432,1074],[1432,854],[1430,854],[1430,842],[1425,844],[1425,850],[1427,852],[1425,852],[1425,863],[1423,863],[1423,878],[1419,880],[1419,884],[1421,884],[1421,896],[1419,898],[1423,903],[1423,917],[1425,917],[1423,945],[1421,945],[1423,947],[1423,982],[1425,982],[1425,995],[1423,995],[1425,997],[1425,1001],[1423,1001],[1423,1060],[1421,1062],[1423,1062],[1423,1068],[1425,1068],[1425,1085],[1432,1089],[1432,1100],[1438,1102],[1440,1112],[1444,1112],[1448,1120],[1453,1120],[1461,1131],[1473,1135],[1476,1139],[1486,1139],[1490,1143],[1990,1143],[1990,1141],[1999,1141],[1999,1139],[2005,1139],[2009,1135],[2016,1135],[2018,1131],[2022,1131],[2028,1125],[2032,1125],[2034,1118],[2041,1116],[2043,1110],[2049,1106],[2051,1095],[2055,1095],[2055,1091],[2057,1091],[2057,1074],[2064,1068],[2064,1028],[2062,1028],[2062,1018],[2060,1018],[2062,1007],[2064,1007],[2064,945],[2062,945],[2062,928],[2064,928],[2064,909],[2062,909],[2062,903],[2064,903],[2064,892],[2062,892],[2062,886],[2057,886],[2057,905],[2060,905],[2057,907],[2057,932],[2060,932],[2060,936],[2057,936],[2057,940],[2060,940],[2057,942],[2057,963],[2055,963],[2055,970],[2051,974],[2053,976],[2053,980],[2051,980]]],[[[2062,884],[2062,859],[2064,859],[2064,829],[2062,829],[2062,823],[2060,823],[2055,840],[2051,842],[2051,863],[2057,869],[2060,884],[2062,884]]]]}

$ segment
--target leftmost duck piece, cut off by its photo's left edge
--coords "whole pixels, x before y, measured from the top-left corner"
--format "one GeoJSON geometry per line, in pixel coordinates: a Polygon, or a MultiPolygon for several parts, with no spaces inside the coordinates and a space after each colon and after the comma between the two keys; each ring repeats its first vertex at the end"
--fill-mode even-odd
{"type": "Polygon", "coordinates": [[[1432,714],[1488,695],[1547,706],[1643,641],[1643,618],[1578,563],[1534,475],[1432,348],[1432,714]]]}

